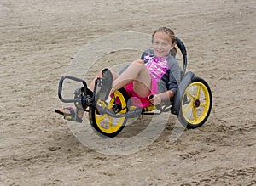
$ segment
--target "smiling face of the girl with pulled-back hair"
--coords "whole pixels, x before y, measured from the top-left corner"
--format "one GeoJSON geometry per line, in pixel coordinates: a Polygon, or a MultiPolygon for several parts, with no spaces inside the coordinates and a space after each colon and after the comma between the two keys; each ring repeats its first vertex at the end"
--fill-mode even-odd
{"type": "Polygon", "coordinates": [[[158,31],[153,37],[154,54],[158,57],[164,57],[170,53],[174,47],[171,37],[163,31],[158,31]]]}

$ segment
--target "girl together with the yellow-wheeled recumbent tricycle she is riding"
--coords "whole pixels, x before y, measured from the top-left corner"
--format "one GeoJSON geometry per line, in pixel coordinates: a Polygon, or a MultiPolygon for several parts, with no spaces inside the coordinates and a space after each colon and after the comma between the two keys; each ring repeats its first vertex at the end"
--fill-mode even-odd
{"type": "Polygon", "coordinates": [[[207,82],[186,71],[187,51],[174,32],[160,27],[152,34],[153,49],[143,52],[124,70],[116,73],[108,68],[87,83],[74,76],[62,76],[59,99],[74,103],[55,112],[69,121],[82,122],[89,112],[91,126],[107,137],[121,132],[129,117],[171,112],[187,128],[201,127],[210,115],[212,93],[207,82]],[[177,63],[177,48],[183,55],[183,65],[177,63]],[[62,97],[62,84],[70,79],[81,82],[73,99],[62,97]],[[130,101],[129,101],[130,100],[130,101]],[[155,112],[158,110],[158,112],[155,112]]]}

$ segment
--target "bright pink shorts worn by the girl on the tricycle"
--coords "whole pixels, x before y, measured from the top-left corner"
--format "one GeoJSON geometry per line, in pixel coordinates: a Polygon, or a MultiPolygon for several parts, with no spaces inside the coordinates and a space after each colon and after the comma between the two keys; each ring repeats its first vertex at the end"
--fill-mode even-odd
{"type": "Polygon", "coordinates": [[[135,97],[137,99],[131,99],[131,103],[138,107],[147,107],[151,104],[151,102],[148,100],[148,96],[151,94],[157,93],[157,82],[151,78],[151,90],[150,93],[148,93],[148,96],[141,97],[133,90],[133,82],[130,82],[128,85],[125,86],[125,90],[128,93],[129,97],[135,97]]]}

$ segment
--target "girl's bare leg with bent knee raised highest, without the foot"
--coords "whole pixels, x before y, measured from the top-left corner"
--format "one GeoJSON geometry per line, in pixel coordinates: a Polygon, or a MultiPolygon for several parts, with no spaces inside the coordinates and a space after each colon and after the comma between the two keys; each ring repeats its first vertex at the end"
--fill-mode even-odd
{"type": "Polygon", "coordinates": [[[133,82],[133,90],[141,97],[148,96],[151,90],[151,76],[143,60],[137,59],[113,81],[110,93],[133,82]]]}

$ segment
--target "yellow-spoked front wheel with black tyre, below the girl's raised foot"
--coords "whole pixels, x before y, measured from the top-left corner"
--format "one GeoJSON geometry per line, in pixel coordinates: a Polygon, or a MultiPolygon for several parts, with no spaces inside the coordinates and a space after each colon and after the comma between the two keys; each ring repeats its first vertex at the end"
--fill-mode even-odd
{"type": "MultiPolygon", "coordinates": [[[[114,92],[113,98],[108,104],[98,101],[97,104],[102,104],[102,107],[107,107],[115,115],[125,114],[127,112],[128,95],[124,88],[114,92]]],[[[108,114],[99,113],[96,107],[90,107],[89,120],[92,127],[97,132],[100,132],[107,137],[115,137],[125,127],[127,117],[114,118],[108,114]]]]}

